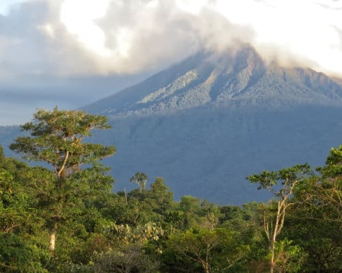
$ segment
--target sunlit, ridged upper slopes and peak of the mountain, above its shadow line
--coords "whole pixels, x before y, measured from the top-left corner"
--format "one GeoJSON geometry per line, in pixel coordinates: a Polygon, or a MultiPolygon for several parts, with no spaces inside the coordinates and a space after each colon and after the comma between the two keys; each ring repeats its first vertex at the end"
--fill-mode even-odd
{"type": "Polygon", "coordinates": [[[274,109],[284,102],[342,105],[342,85],[310,68],[265,64],[254,49],[245,47],[220,56],[198,53],[84,109],[101,108],[102,114],[117,119],[203,105],[274,109]]]}

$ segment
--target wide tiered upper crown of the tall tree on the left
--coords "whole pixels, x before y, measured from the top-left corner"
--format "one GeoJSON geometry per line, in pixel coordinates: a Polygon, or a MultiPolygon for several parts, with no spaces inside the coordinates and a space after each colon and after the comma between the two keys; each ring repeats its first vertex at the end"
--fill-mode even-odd
{"type": "Polygon", "coordinates": [[[57,177],[77,170],[82,164],[92,164],[115,153],[114,146],[82,143],[92,135],[92,129],[109,129],[105,116],[95,116],[83,111],[39,109],[34,121],[22,125],[31,136],[16,138],[10,148],[23,153],[31,161],[51,164],[57,177]]]}

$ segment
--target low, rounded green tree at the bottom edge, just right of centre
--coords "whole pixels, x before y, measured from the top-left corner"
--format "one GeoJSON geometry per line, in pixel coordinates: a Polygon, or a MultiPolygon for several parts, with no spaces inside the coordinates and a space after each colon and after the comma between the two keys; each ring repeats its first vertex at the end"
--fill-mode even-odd
{"type": "Polygon", "coordinates": [[[246,261],[250,249],[238,242],[239,239],[237,232],[225,228],[175,231],[169,236],[166,250],[169,252],[167,254],[174,252],[175,255],[170,262],[171,272],[210,273],[233,270],[246,261]]]}

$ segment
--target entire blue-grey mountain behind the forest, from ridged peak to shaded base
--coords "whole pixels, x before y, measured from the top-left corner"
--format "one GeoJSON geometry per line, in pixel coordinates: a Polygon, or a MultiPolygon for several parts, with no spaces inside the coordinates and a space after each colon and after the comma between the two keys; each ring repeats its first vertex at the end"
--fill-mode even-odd
{"type": "MultiPolygon", "coordinates": [[[[105,159],[116,190],[146,172],[164,177],[176,198],[221,204],[267,200],[245,177],[308,160],[324,164],[342,144],[342,81],[310,68],[266,64],[250,47],[199,53],[84,107],[109,117],[114,129],[94,142],[114,144],[105,159]]],[[[12,129],[0,131],[10,143],[12,129]]]]}

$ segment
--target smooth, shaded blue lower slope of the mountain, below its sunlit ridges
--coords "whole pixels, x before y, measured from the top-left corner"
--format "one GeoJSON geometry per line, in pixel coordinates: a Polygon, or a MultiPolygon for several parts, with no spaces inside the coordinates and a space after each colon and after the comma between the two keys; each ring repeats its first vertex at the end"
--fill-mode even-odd
{"type": "Polygon", "coordinates": [[[116,155],[105,162],[116,190],[129,189],[134,172],[146,172],[164,177],[175,198],[191,194],[237,205],[269,198],[245,180],[254,172],[293,162],[324,164],[327,151],[341,142],[341,110],[197,108],[114,120],[114,129],[96,133],[94,141],[116,145],[116,155]]]}

